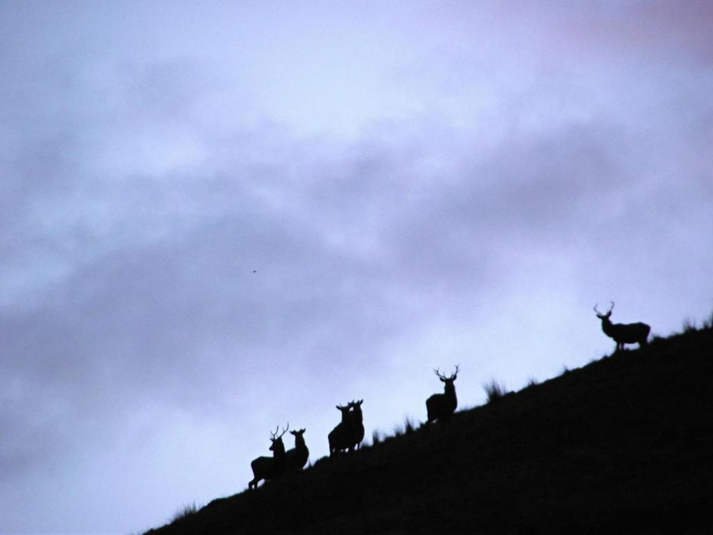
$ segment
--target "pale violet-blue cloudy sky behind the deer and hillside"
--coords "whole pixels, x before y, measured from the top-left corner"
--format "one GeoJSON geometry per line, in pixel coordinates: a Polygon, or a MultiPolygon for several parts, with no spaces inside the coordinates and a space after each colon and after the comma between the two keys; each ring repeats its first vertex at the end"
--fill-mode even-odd
{"type": "Polygon", "coordinates": [[[705,1],[0,1],[1,533],[128,533],[713,311],[705,1]],[[289,445],[292,440],[287,441],[289,445]]]}

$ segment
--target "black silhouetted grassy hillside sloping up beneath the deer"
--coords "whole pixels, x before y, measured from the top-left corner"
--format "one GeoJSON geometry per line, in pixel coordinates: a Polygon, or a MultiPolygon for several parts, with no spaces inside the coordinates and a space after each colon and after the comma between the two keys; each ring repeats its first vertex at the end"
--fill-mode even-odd
{"type": "Polygon", "coordinates": [[[149,533],[713,533],[711,379],[689,330],[149,533]]]}

